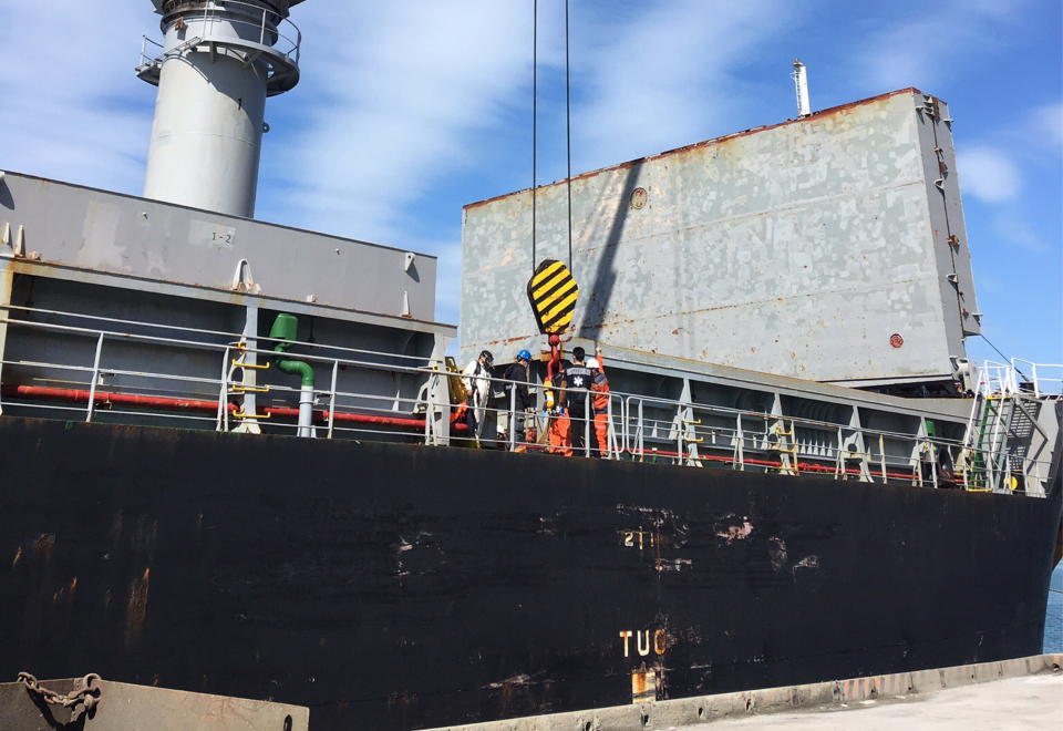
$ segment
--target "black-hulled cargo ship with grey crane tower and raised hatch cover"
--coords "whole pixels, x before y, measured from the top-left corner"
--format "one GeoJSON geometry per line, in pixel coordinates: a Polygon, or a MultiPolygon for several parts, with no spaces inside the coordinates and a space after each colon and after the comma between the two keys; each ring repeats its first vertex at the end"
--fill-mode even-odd
{"type": "Polygon", "coordinates": [[[461,360],[533,361],[495,440],[515,397],[467,419],[434,257],[251,217],[295,4],[155,1],[144,197],[0,177],[0,675],[405,730],[1040,650],[1061,369],[966,358],[941,100],[466,206],[461,360]],[[611,385],[571,457],[549,258],[611,385]]]}

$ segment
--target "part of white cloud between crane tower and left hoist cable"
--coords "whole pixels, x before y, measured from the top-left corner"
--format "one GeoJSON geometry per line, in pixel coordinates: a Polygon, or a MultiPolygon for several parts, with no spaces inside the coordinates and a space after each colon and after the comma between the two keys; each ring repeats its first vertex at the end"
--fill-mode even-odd
{"type": "Polygon", "coordinates": [[[323,230],[401,237],[405,206],[475,159],[477,135],[527,93],[530,13],[495,0],[298,10],[312,40],[292,92],[289,213],[323,230]]]}

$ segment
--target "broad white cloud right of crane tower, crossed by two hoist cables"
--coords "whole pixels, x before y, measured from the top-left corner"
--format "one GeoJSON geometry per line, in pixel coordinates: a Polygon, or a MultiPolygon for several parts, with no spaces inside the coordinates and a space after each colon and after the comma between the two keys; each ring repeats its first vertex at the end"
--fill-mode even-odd
{"type": "MultiPolygon", "coordinates": [[[[575,169],[733,131],[737,110],[756,104],[734,71],[784,27],[787,7],[574,7],[575,169]]],[[[560,0],[539,3],[540,182],[564,176],[563,10],[560,0]]],[[[493,171],[487,143],[527,123],[513,114],[532,101],[529,3],[307,3],[296,20],[307,39],[302,87],[290,95],[300,101],[271,102],[289,104],[299,127],[278,166],[289,171],[285,218],[403,238],[403,218],[445,172],[493,171]]]]}

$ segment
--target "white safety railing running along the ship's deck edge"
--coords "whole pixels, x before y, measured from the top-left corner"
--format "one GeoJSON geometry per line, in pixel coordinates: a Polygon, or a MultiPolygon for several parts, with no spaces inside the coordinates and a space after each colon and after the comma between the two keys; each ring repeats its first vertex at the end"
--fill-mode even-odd
{"type": "MultiPolygon", "coordinates": [[[[2,309],[8,310],[0,321],[8,326],[9,343],[18,342],[12,333],[29,330],[52,336],[45,340],[53,346],[44,351],[71,353],[66,362],[54,362],[54,357],[33,360],[20,358],[18,348],[9,347],[0,361],[0,405],[6,409],[80,413],[89,422],[153,423],[169,419],[217,431],[301,433],[295,408],[301,392],[297,380],[288,374],[259,378],[271,359],[285,359],[310,363],[318,375],[328,377],[328,388],[313,389],[313,431],[305,435],[494,445],[512,451],[933,487],[1000,491],[1001,485],[987,481],[984,471],[972,466],[991,464],[993,455],[962,439],[560,387],[548,390],[566,408],[548,410],[547,389],[541,384],[495,377],[489,380],[489,391],[505,397],[475,404],[463,392],[461,374],[429,357],[266,337],[249,343],[233,332],[29,307],[2,309]],[[56,319],[91,320],[101,327],[48,321],[56,319]],[[64,343],[62,348],[55,347],[59,342],[64,343]],[[272,348],[279,342],[296,352],[276,352],[272,348]],[[146,359],[141,362],[183,363],[184,368],[171,372],[162,366],[153,370],[131,368],[137,358],[146,359]],[[192,362],[197,366],[189,367],[192,362]],[[362,388],[371,374],[375,374],[375,390],[362,388]],[[391,380],[381,381],[381,375],[391,380]],[[341,388],[341,380],[359,385],[341,388]],[[385,383],[390,385],[384,388],[385,383]],[[527,409],[522,408],[523,400],[518,401],[525,388],[527,403],[534,404],[527,409]],[[249,404],[257,405],[247,411],[249,404]],[[499,435],[499,431],[504,433],[499,435]]],[[[1008,372],[1014,368],[997,366],[1003,370],[983,370],[987,383],[1018,388],[1008,372]]],[[[1034,389],[1039,388],[1034,381],[1034,389]]],[[[1039,474],[1034,467],[1047,472],[1043,456],[1024,460],[1018,474],[1039,474]]],[[[1033,485],[1024,487],[1028,494],[1043,494],[1032,490],[1033,485]]]]}

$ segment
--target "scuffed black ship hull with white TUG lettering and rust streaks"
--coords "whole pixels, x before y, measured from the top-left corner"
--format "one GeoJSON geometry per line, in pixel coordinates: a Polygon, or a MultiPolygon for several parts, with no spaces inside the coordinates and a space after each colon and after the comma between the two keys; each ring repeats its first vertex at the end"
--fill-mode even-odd
{"type": "Polygon", "coordinates": [[[1040,651],[1049,500],[0,419],[0,678],[416,729],[1040,651]],[[643,672],[644,671],[644,672],[643,672]]]}

